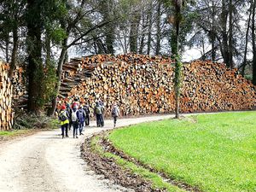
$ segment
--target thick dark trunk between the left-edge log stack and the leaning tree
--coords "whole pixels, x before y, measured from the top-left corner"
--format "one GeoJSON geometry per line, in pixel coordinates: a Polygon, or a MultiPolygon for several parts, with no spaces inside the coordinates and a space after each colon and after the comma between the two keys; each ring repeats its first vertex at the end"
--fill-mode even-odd
{"type": "Polygon", "coordinates": [[[42,97],[42,82],[44,78],[41,42],[41,15],[40,3],[36,0],[27,0],[27,51],[28,51],[28,101],[27,110],[31,113],[40,113],[44,106],[42,97]]]}

